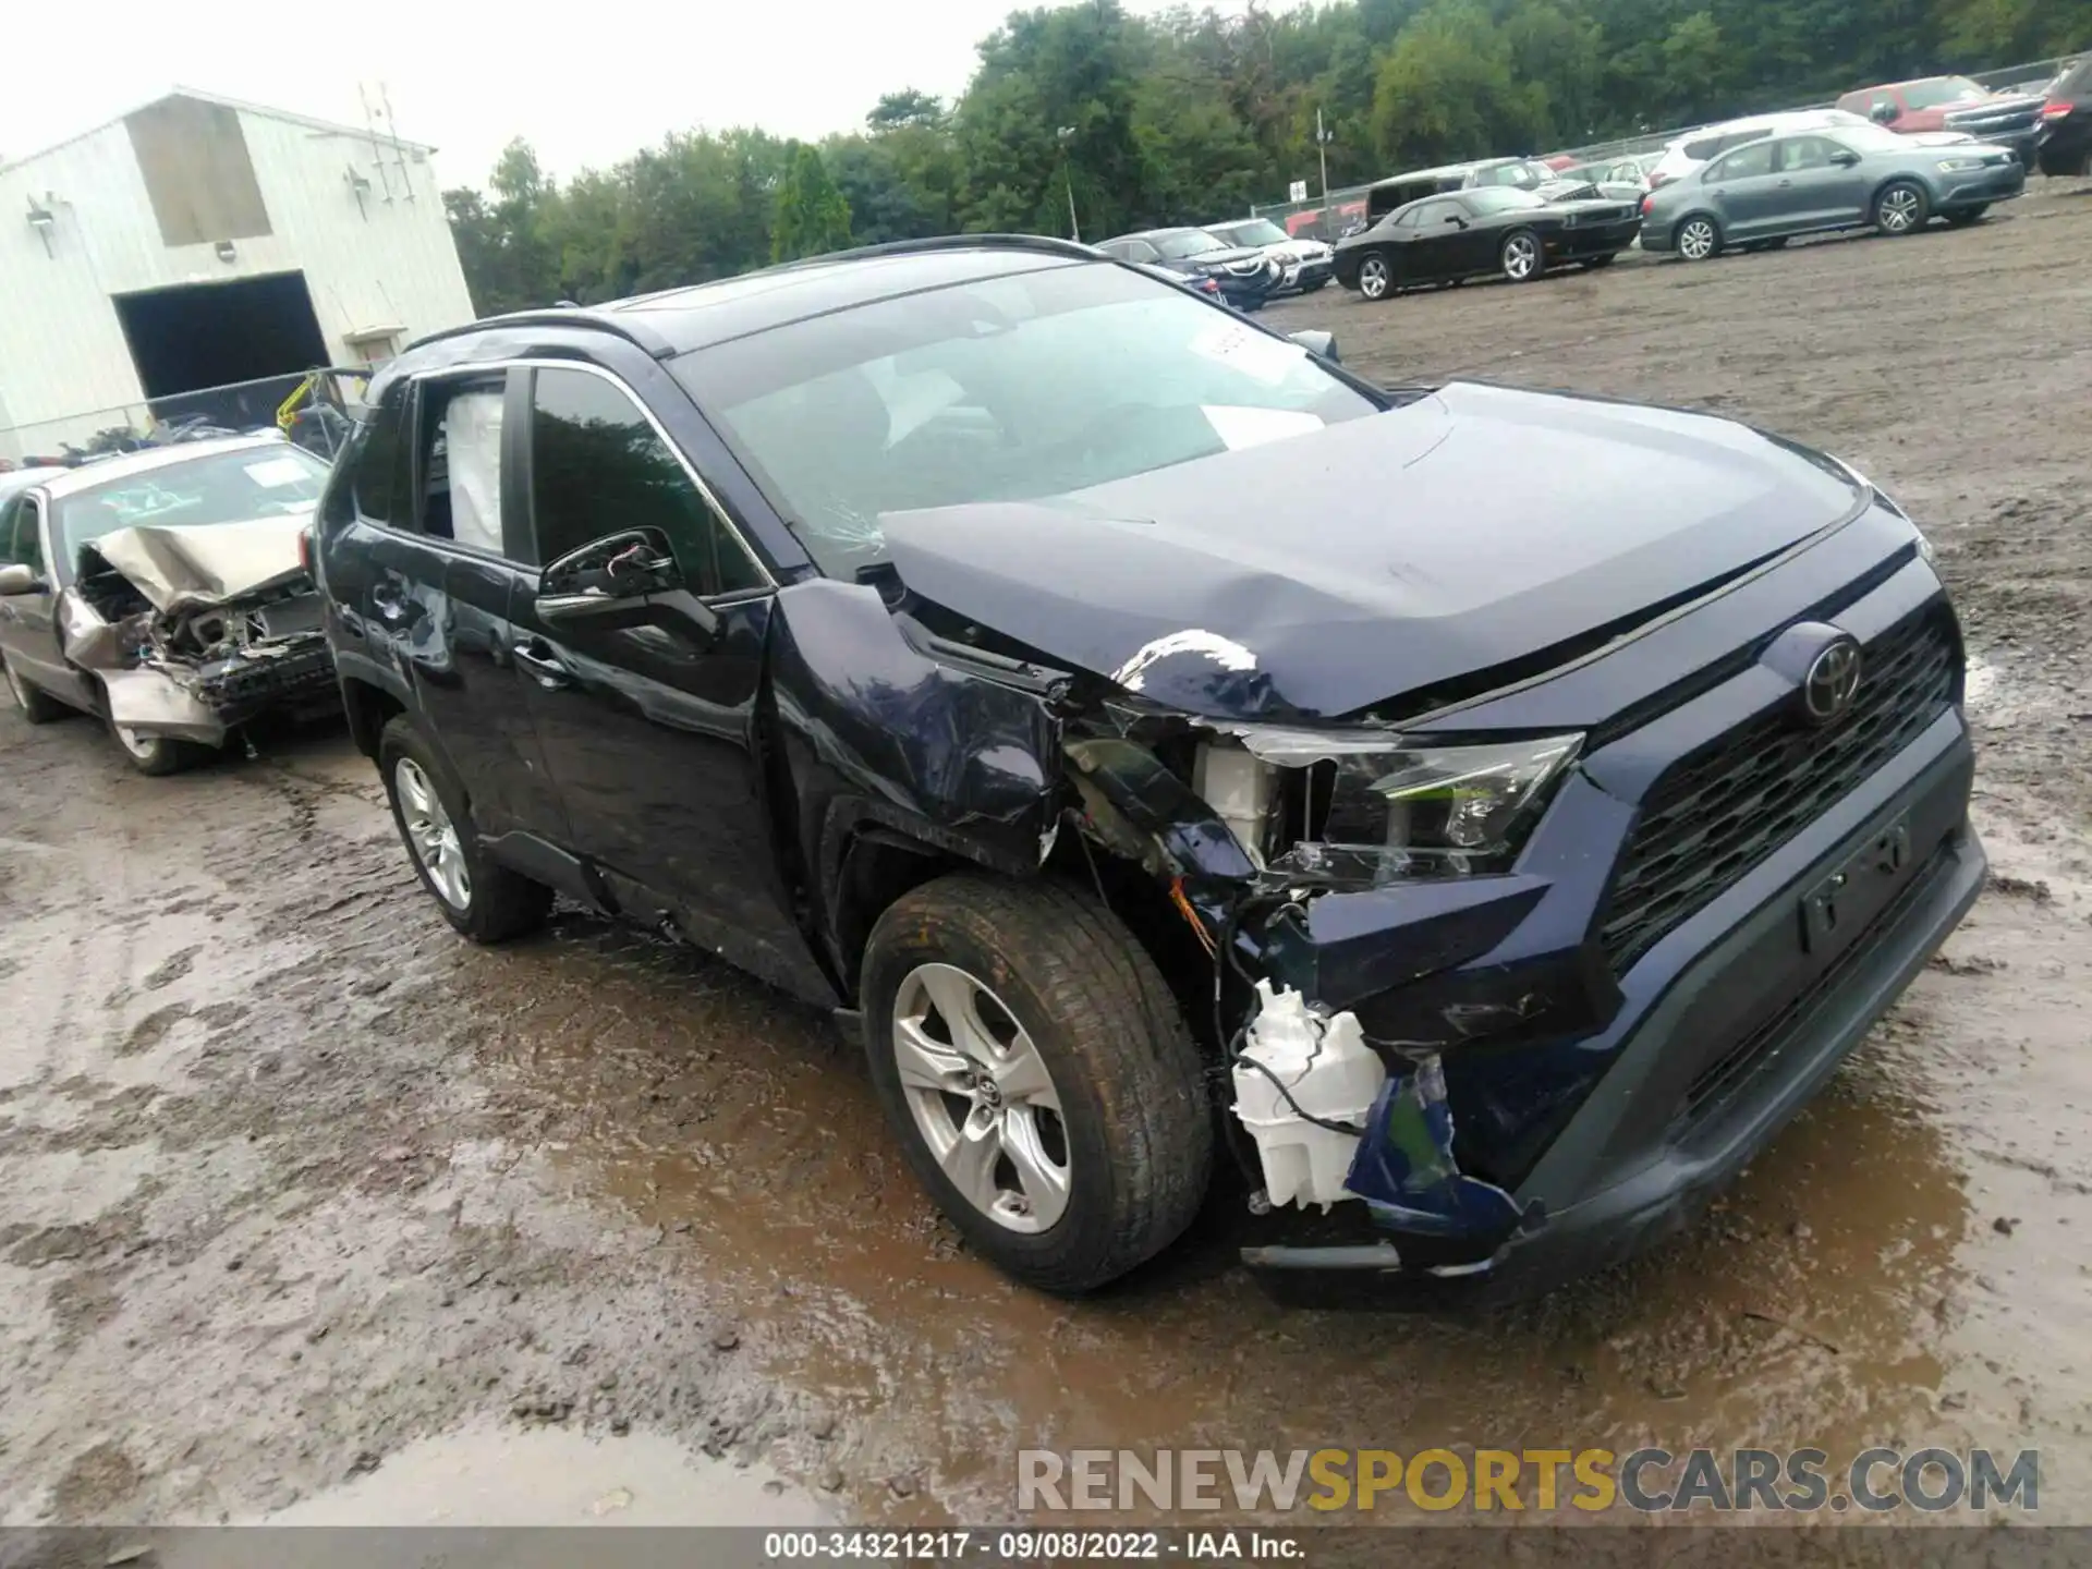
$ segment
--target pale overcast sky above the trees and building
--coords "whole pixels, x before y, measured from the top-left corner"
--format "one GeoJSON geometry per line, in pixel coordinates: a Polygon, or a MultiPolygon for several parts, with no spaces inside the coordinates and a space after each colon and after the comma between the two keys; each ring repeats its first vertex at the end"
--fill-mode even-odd
{"type": "MultiPolygon", "coordinates": [[[[1054,0],[1029,0],[1029,4],[1054,0]]],[[[1165,0],[1130,0],[1161,10],[1165,0]]],[[[1218,8],[1241,10],[1245,0],[1218,8]]],[[[433,142],[446,186],[485,184],[513,136],[565,178],[665,132],[761,126],[818,138],[862,126],[883,92],[954,98],[975,44],[1019,0],[623,0],[586,6],[356,0],[197,13],[96,0],[84,44],[52,0],[25,0],[79,48],[36,48],[0,94],[0,161],[115,119],[174,86],[349,126],[383,86],[397,134],[433,142]],[[573,25],[561,27],[565,17],[573,25]]],[[[23,38],[17,17],[15,38],[23,38]]],[[[31,33],[36,27],[29,29],[31,33]]]]}

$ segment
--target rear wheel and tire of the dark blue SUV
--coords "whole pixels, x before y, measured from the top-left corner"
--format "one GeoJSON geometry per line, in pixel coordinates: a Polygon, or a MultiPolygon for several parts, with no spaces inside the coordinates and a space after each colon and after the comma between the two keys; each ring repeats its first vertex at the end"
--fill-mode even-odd
{"type": "Polygon", "coordinates": [[[464,791],[404,713],[379,736],[379,772],[414,874],[444,920],[475,943],[508,941],[544,925],[552,889],[487,858],[464,791]]]}

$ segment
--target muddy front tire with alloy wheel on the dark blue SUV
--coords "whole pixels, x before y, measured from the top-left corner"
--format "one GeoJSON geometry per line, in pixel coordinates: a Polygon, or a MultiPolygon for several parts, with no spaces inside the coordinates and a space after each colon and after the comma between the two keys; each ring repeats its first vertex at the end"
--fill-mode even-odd
{"type": "Polygon", "coordinates": [[[973,872],[902,895],[864,950],[872,1088],[967,1241],[1061,1295],[1115,1280],[1199,1213],[1201,1061],[1146,950],[1061,887],[973,872]]]}

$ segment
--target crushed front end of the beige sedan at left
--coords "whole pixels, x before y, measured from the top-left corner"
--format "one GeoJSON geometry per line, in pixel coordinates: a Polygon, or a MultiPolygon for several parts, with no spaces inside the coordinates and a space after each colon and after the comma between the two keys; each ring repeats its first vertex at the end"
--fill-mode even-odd
{"type": "Polygon", "coordinates": [[[59,628],[65,657],[103,684],[111,724],[222,747],[268,711],[333,707],[301,529],[301,517],[128,527],[79,548],[59,628]]]}

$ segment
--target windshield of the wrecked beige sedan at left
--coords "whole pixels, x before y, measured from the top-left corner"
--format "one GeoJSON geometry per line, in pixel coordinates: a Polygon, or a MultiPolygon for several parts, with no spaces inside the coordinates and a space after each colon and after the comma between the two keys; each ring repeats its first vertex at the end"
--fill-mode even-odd
{"type": "Polygon", "coordinates": [[[67,561],[77,561],[79,546],[138,523],[190,527],[310,513],[324,483],[326,464],[291,444],[211,452],[75,490],[59,500],[56,527],[67,561]]]}

